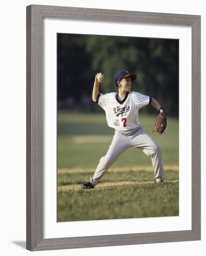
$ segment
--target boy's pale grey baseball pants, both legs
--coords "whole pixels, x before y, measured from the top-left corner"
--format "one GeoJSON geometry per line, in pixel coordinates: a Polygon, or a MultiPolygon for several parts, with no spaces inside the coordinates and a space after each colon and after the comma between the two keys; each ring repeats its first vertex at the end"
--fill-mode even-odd
{"type": "Polygon", "coordinates": [[[143,128],[139,128],[133,135],[125,135],[121,132],[115,132],[113,141],[109,146],[106,155],[100,159],[100,162],[93,175],[93,185],[97,185],[105,174],[106,170],[117,160],[117,158],[127,148],[139,148],[147,156],[151,156],[154,169],[154,178],[163,176],[162,156],[159,145],[146,133],[143,128]]]}

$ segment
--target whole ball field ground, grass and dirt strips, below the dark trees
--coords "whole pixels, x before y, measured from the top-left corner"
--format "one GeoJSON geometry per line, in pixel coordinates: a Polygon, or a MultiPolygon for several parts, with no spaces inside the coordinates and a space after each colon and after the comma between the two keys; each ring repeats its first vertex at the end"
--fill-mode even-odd
{"type": "Polygon", "coordinates": [[[80,190],[113,138],[104,114],[58,113],[57,221],[179,215],[179,124],[168,117],[166,134],[152,133],[156,116],[140,114],[142,127],[158,142],[165,182],[154,184],[151,160],[129,148],[91,190],[80,190]]]}

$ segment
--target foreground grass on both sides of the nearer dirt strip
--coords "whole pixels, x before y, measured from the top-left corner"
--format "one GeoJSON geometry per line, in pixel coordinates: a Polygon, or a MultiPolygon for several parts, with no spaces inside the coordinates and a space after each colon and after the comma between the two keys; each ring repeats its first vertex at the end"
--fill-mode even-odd
{"type": "MultiPolygon", "coordinates": [[[[91,173],[59,175],[58,184],[85,182],[91,173]]],[[[108,172],[104,182],[151,181],[152,172],[108,172]]],[[[179,215],[178,172],[168,171],[161,184],[132,184],[58,193],[58,222],[179,215]]]]}

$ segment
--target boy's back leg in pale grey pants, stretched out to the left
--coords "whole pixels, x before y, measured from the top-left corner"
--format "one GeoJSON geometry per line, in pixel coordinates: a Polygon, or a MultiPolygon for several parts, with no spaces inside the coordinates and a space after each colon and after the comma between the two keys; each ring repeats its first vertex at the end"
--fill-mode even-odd
{"type": "Polygon", "coordinates": [[[126,135],[116,133],[113,136],[113,141],[109,146],[106,155],[100,159],[100,162],[94,172],[92,184],[95,186],[100,182],[100,179],[110,168],[110,166],[117,160],[117,158],[127,149],[131,147],[126,135]]]}

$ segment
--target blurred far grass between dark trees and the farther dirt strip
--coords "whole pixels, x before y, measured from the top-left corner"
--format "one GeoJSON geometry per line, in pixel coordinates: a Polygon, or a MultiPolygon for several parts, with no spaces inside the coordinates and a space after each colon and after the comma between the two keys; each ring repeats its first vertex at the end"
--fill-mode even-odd
{"type": "MultiPolygon", "coordinates": [[[[154,134],[153,125],[156,116],[141,115],[140,121],[146,132],[159,144],[163,163],[179,163],[179,122],[168,117],[166,134],[154,134]]],[[[100,158],[106,155],[112,142],[114,130],[106,124],[104,114],[76,114],[58,113],[58,168],[91,167],[96,168],[100,158]],[[75,143],[74,136],[88,136],[87,143],[75,143]],[[110,135],[111,140],[103,142],[90,142],[89,136],[110,135]]],[[[136,164],[148,165],[150,158],[137,148],[127,149],[113,164],[114,167],[131,166],[136,164]]]]}

